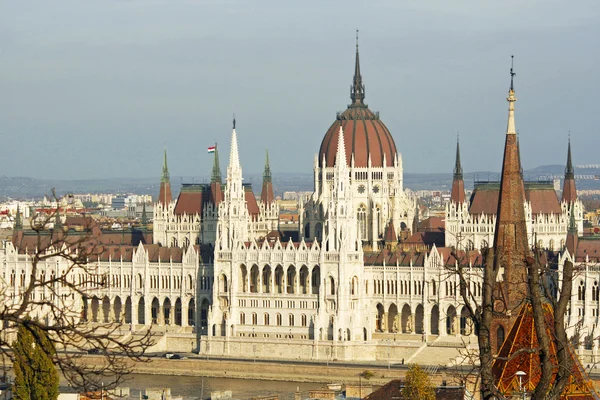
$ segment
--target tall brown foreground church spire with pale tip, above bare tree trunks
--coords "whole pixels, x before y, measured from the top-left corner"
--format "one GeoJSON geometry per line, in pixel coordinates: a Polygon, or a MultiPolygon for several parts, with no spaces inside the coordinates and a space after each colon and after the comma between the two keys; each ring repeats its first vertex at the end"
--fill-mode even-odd
{"type": "MultiPolygon", "coordinates": [[[[513,322],[511,315],[516,315],[516,309],[527,294],[525,257],[530,253],[525,222],[525,193],[515,130],[515,101],[517,98],[513,83],[515,74],[512,67],[510,75],[510,90],[507,98],[508,125],[494,235],[495,257],[499,259],[500,266],[498,276],[500,284],[496,296],[499,301],[503,302],[502,308],[505,313],[505,317],[499,316],[496,322],[502,326],[503,332],[509,331],[513,322]]],[[[497,329],[493,330],[494,335],[495,332],[497,329]]],[[[494,337],[493,343],[500,341],[497,339],[494,337]]]]}

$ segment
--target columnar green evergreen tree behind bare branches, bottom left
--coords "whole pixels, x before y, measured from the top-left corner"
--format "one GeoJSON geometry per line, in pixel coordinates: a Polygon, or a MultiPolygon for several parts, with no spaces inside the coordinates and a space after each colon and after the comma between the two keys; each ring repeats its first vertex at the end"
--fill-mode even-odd
{"type": "Polygon", "coordinates": [[[46,332],[30,325],[19,327],[13,343],[15,400],[56,400],[58,398],[58,371],[52,362],[54,345],[46,332]]]}

